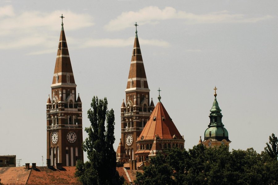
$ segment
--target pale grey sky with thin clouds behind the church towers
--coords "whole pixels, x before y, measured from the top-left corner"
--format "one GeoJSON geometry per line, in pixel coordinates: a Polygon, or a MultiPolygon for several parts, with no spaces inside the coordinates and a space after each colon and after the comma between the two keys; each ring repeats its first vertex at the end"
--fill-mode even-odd
{"type": "Polygon", "coordinates": [[[45,104],[61,14],[83,128],[92,97],[107,97],[117,149],[137,22],[150,97],[156,105],[162,90],[185,148],[204,138],[216,85],[230,151],[260,153],[272,133],[278,136],[277,9],[276,0],[1,0],[0,155],[37,166],[43,156],[46,165],[45,104]]]}

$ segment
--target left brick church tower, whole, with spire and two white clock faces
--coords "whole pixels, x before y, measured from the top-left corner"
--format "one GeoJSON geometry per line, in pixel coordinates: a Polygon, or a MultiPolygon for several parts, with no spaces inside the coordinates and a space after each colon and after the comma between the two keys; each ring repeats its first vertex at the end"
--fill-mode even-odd
{"type": "Polygon", "coordinates": [[[76,84],[63,27],[60,34],[51,98],[46,104],[47,159],[50,165],[75,166],[83,160],[82,102],[76,84]]]}

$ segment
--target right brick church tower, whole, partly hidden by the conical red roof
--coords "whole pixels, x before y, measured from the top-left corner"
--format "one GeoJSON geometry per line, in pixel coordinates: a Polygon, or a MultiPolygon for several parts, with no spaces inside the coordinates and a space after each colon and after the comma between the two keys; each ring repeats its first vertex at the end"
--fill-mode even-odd
{"type": "MultiPolygon", "coordinates": [[[[137,28],[137,23],[135,24],[137,28]]],[[[117,162],[135,159],[136,140],[154,109],[146,78],[141,49],[135,32],[125,101],[121,106],[121,139],[116,151],[117,162]]]]}

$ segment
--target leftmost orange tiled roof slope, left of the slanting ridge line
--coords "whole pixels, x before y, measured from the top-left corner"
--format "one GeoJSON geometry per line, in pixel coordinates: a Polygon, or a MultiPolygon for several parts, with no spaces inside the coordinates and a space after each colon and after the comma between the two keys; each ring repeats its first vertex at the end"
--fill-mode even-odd
{"type": "Polygon", "coordinates": [[[25,167],[0,168],[1,183],[6,184],[26,184],[31,170],[25,170],[25,167]]]}

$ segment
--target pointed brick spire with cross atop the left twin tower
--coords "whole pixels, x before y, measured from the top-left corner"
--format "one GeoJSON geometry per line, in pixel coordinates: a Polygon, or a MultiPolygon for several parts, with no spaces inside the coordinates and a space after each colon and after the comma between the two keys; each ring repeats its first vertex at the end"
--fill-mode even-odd
{"type": "Polygon", "coordinates": [[[61,18],[62,18],[62,29],[60,33],[56,64],[55,64],[51,87],[55,87],[61,84],[67,84],[72,87],[76,87],[74,81],[74,75],[71,67],[71,62],[70,62],[68,45],[65,38],[64,23],[63,23],[63,18],[65,17],[62,15],[61,18]]]}

